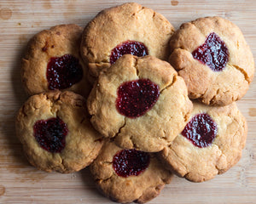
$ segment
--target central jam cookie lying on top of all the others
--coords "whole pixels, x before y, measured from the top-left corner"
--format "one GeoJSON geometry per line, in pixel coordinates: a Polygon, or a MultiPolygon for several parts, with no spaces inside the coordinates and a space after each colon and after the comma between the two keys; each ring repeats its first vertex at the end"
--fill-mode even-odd
{"type": "Polygon", "coordinates": [[[171,144],[192,111],[182,77],[166,61],[125,54],[94,84],[90,122],[122,148],[156,152],[171,144]]]}

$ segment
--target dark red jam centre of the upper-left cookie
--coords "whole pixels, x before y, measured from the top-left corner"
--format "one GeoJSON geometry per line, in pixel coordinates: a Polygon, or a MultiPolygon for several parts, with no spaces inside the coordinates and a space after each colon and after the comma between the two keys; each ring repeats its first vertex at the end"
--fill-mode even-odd
{"type": "Polygon", "coordinates": [[[82,65],[72,54],[49,59],[46,77],[49,90],[70,88],[83,77],[82,65]]]}

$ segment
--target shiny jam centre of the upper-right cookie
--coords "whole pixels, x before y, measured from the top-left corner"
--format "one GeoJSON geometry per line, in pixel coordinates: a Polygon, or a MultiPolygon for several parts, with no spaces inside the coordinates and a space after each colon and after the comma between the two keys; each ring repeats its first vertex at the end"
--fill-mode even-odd
{"type": "Polygon", "coordinates": [[[212,71],[222,71],[229,60],[229,49],[223,40],[212,32],[199,48],[196,48],[193,57],[202,64],[209,66],[212,71]]]}

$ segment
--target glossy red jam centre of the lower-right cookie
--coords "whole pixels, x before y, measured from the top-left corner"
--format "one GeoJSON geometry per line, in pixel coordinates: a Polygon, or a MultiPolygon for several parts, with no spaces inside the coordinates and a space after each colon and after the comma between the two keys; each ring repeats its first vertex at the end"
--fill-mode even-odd
{"type": "Polygon", "coordinates": [[[182,135],[197,147],[212,144],[217,134],[217,125],[207,113],[194,116],[183,129],[182,135]]]}

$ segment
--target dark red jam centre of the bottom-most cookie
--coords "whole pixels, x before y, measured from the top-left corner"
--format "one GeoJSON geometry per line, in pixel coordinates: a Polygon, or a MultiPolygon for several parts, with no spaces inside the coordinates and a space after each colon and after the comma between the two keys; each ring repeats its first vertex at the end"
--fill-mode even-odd
{"type": "Polygon", "coordinates": [[[121,177],[138,176],[148,167],[150,156],[140,150],[120,150],[113,156],[113,169],[121,177]]]}

